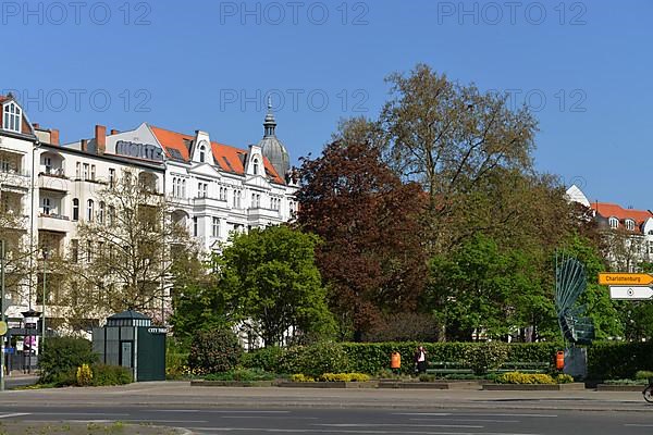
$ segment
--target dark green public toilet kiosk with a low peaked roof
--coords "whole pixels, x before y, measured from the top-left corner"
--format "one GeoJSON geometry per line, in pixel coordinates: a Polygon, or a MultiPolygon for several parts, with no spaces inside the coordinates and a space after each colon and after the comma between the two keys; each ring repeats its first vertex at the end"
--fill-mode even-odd
{"type": "Polygon", "coordinates": [[[130,368],[135,382],[165,381],[167,333],[147,315],[127,310],[93,330],[93,350],[104,364],[130,368]]]}

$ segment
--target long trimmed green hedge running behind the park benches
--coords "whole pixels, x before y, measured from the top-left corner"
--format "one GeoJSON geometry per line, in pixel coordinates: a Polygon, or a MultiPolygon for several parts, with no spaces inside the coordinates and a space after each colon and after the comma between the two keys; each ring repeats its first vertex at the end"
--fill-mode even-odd
{"type": "MultiPolygon", "coordinates": [[[[391,353],[402,355],[404,374],[414,371],[412,355],[417,346],[424,346],[429,361],[467,362],[469,349],[483,348],[483,343],[343,343],[317,344],[288,349],[267,348],[246,353],[241,360],[245,368],[258,368],[276,373],[315,374],[331,372],[359,372],[377,374],[390,369],[391,353]],[[322,356],[322,358],[319,358],[322,356]],[[346,358],[343,358],[346,357],[346,358]]],[[[555,368],[555,353],[562,350],[557,343],[509,344],[506,361],[546,362],[555,368]]]]}

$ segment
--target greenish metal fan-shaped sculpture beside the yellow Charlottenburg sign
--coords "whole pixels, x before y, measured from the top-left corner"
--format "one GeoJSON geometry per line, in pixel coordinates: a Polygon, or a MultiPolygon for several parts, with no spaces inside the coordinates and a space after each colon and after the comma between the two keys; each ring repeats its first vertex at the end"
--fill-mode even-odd
{"type": "Polygon", "coordinates": [[[565,339],[572,345],[589,345],[594,338],[592,319],[582,316],[586,306],[577,300],[588,286],[584,265],[576,258],[555,256],[555,309],[565,339]]]}

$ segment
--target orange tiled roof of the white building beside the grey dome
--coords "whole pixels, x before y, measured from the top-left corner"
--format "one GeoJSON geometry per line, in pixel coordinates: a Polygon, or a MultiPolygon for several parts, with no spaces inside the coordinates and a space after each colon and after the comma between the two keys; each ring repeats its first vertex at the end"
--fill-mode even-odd
{"type": "MultiPolygon", "coordinates": [[[[175,149],[180,152],[185,162],[190,159],[186,144],[194,140],[194,136],[155,127],[153,125],[150,125],[149,127],[155,136],[157,136],[157,139],[161,146],[163,146],[168,157],[171,157],[169,149],[175,149]]],[[[247,157],[247,151],[230,145],[218,144],[213,141],[211,142],[211,151],[213,152],[213,159],[220,169],[226,172],[236,173],[238,175],[245,174],[245,166],[243,163],[247,157]]],[[[272,166],[272,163],[270,163],[268,159],[263,158],[263,164],[266,166],[266,172],[274,183],[284,184],[283,178],[279,176],[274,170],[274,166],[272,166]]]]}

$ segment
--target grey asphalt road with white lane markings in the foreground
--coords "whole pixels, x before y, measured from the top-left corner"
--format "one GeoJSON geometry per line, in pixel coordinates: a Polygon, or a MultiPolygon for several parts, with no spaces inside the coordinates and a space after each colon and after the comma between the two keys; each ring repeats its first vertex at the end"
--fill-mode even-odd
{"type": "Polygon", "coordinates": [[[131,422],[185,427],[195,434],[428,434],[428,435],[644,435],[651,413],[523,410],[175,409],[151,407],[21,406],[0,421],[131,422]]]}

